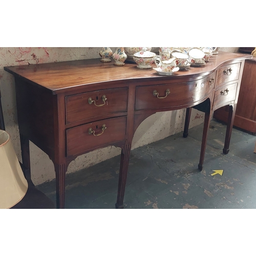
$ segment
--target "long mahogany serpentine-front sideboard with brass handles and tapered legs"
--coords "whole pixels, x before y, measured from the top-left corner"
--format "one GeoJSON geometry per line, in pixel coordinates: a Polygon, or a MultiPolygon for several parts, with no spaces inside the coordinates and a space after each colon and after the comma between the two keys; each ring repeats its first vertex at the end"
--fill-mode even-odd
{"type": "MultiPolygon", "coordinates": [[[[204,67],[172,76],[138,69],[134,63],[117,67],[99,59],[5,67],[15,77],[23,164],[30,170],[30,140],[53,161],[57,208],[64,208],[69,163],[98,148],[121,147],[116,208],[123,208],[132,139],[148,116],[186,108],[186,137],[191,108],[205,112],[198,165],[202,170],[210,117],[230,105],[223,148],[228,153],[244,61],[251,57],[220,52],[204,67]]],[[[26,178],[31,178],[30,172],[26,178]]]]}

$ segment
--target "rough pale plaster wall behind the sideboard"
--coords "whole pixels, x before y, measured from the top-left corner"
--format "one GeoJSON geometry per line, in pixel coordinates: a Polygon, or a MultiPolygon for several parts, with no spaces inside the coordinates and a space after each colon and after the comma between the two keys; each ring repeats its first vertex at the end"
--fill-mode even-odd
{"type": "MultiPolygon", "coordinates": [[[[6,131],[19,160],[21,160],[20,143],[16,114],[14,77],[4,71],[5,66],[31,65],[37,63],[68,61],[77,59],[99,58],[97,47],[0,47],[0,90],[6,131]]],[[[152,51],[158,51],[153,48],[152,51]]],[[[219,48],[221,51],[237,52],[238,48],[219,48]]],[[[113,52],[116,50],[112,48],[113,52]]],[[[118,67],[117,67],[118,68],[118,67]]],[[[144,120],[135,133],[132,149],[166,138],[183,129],[185,110],[156,113],[144,120]]],[[[203,122],[204,114],[193,110],[190,127],[203,122]]],[[[49,157],[30,142],[31,176],[35,185],[55,178],[54,166],[49,157]]],[[[109,146],[77,157],[68,168],[68,173],[94,165],[120,154],[120,148],[109,146]]]]}

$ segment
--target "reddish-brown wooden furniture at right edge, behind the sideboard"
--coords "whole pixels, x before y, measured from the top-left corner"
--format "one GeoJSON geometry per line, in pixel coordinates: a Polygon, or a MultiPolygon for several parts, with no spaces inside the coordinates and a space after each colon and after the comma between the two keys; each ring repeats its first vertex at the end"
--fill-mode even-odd
{"type": "MultiPolygon", "coordinates": [[[[227,122],[228,107],[215,111],[214,118],[227,122]]],[[[256,134],[256,57],[245,60],[234,126],[256,134]]]]}

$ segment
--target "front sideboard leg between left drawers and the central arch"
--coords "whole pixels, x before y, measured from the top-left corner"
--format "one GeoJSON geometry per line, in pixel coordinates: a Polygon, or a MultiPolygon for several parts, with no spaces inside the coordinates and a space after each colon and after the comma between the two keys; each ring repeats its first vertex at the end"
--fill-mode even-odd
{"type": "Polygon", "coordinates": [[[127,178],[127,172],[128,172],[130,153],[131,153],[131,144],[126,144],[124,147],[124,150],[122,149],[122,153],[121,153],[117,202],[116,202],[117,209],[123,209],[123,198],[124,198],[124,190],[125,190],[125,184],[126,184],[126,178],[127,178]]]}

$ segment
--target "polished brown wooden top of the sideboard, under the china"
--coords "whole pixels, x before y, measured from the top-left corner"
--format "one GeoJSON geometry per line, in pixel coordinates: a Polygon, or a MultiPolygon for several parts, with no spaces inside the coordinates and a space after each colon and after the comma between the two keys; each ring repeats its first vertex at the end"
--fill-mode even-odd
{"type": "MultiPolygon", "coordinates": [[[[53,94],[65,92],[70,88],[97,84],[102,82],[129,81],[129,79],[154,78],[159,81],[181,77],[207,75],[227,61],[252,58],[241,53],[219,52],[206,62],[204,67],[190,67],[188,70],[176,72],[173,76],[160,76],[153,69],[138,69],[135,63],[125,63],[117,67],[111,62],[101,62],[99,59],[84,59],[35,65],[5,67],[5,71],[15,77],[29,80],[52,91],[53,94]]],[[[153,65],[155,67],[155,64],[153,65]]],[[[141,81],[141,80],[140,80],[141,81]]]]}

